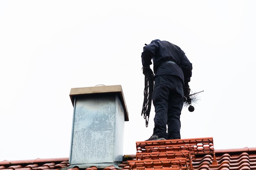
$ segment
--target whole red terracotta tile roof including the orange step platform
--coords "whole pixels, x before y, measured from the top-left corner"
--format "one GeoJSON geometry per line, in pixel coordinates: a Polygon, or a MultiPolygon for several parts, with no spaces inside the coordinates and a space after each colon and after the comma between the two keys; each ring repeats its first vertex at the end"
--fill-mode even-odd
{"type": "MultiPolygon", "coordinates": [[[[118,168],[100,170],[256,170],[256,148],[214,150],[212,138],[136,142],[118,168]]],[[[99,170],[70,167],[69,158],[0,161],[0,170],[99,170]]]]}

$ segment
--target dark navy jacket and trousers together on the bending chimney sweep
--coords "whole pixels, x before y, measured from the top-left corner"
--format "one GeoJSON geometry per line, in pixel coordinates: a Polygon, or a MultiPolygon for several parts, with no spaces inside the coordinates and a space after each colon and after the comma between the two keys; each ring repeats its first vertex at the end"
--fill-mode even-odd
{"type": "Polygon", "coordinates": [[[189,88],[192,64],[180,47],[160,40],[144,46],[143,67],[154,63],[155,127],[153,134],[165,139],[180,139],[180,114],[184,102],[183,88],[189,88]],[[172,62],[166,62],[172,61],[172,62]],[[166,125],[168,133],[166,133],[166,125]]]}

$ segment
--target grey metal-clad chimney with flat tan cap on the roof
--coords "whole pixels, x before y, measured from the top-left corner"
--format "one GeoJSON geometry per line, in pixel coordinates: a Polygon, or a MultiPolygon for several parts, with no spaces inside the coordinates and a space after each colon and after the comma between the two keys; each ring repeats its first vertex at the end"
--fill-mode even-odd
{"type": "Polygon", "coordinates": [[[70,167],[118,168],[123,161],[124,121],[129,121],[121,85],[71,88],[70,99],[70,167]]]}

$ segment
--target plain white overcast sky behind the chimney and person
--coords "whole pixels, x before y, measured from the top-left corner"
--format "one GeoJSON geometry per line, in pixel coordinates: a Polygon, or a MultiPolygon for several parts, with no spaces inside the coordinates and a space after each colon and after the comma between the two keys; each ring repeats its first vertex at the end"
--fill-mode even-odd
{"type": "Polygon", "coordinates": [[[70,89],[121,85],[130,121],[124,155],[152,135],[141,116],[141,52],[151,40],[180,46],[193,63],[195,111],[181,137],[215,149],[256,147],[253,0],[1,0],[0,161],[69,157],[70,89]]]}

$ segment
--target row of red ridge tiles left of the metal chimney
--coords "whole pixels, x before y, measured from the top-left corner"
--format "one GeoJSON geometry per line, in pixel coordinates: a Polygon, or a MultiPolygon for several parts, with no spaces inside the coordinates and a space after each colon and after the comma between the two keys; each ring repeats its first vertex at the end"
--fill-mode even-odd
{"type": "Polygon", "coordinates": [[[16,160],[16,161],[0,161],[0,165],[12,165],[12,164],[23,164],[23,163],[42,163],[42,162],[62,162],[69,161],[69,158],[47,158],[47,159],[28,159],[28,160],[16,160]]]}

